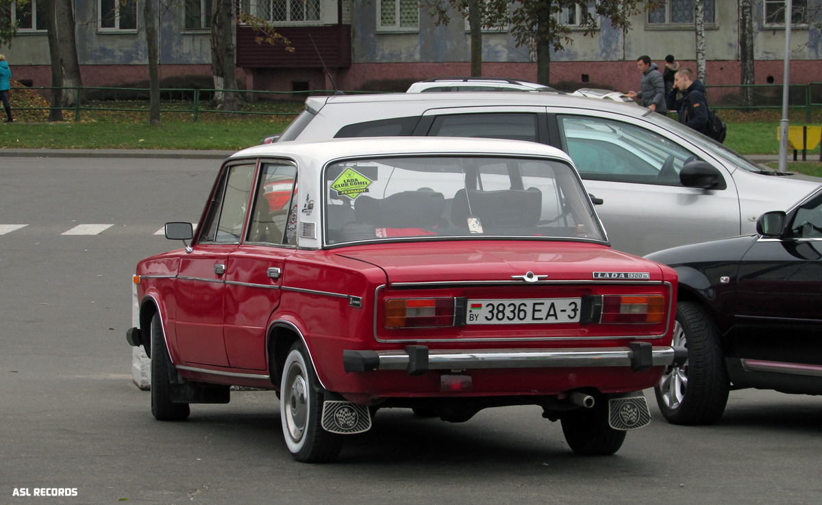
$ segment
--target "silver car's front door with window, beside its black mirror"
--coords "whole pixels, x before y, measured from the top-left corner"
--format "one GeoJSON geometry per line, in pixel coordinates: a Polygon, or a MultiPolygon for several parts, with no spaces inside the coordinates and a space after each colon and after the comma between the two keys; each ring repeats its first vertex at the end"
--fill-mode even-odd
{"type": "MultiPolygon", "coordinates": [[[[604,116],[604,115],[603,115],[604,116]]],[[[713,190],[682,186],[681,168],[699,159],[656,126],[617,117],[557,114],[561,148],[574,160],[617,250],[655,250],[740,233],[736,186],[724,168],[713,190]]]]}

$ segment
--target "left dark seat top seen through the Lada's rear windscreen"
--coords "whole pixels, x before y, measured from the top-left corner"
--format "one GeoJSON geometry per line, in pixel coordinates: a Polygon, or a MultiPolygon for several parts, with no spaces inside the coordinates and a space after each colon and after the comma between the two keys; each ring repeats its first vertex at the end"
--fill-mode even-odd
{"type": "Polygon", "coordinates": [[[439,222],[446,198],[433,191],[403,191],[377,200],[359,195],[354,204],[358,223],[388,228],[430,228],[439,222]]]}

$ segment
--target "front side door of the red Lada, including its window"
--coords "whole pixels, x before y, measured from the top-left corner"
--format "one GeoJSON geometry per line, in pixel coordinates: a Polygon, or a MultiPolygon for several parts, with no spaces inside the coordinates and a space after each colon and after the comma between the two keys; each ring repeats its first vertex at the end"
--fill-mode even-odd
{"type": "Polygon", "coordinates": [[[186,363],[229,366],[223,337],[224,275],[242,237],[255,170],[254,163],[224,168],[192,251],[180,259],[174,328],[186,363]]]}

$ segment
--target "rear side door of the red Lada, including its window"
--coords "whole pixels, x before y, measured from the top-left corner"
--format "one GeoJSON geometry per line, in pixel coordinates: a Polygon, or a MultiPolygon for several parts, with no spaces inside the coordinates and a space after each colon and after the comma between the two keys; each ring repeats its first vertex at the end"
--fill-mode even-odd
{"type": "MultiPolygon", "coordinates": [[[[297,168],[261,162],[242,246],[225,273],[225,350],[232,368],[266,370],[266,324],[279,305],[285,259],[296,246],[297,168]]],[[[308,203],[303,212],[311,212],[308,203]]]]}

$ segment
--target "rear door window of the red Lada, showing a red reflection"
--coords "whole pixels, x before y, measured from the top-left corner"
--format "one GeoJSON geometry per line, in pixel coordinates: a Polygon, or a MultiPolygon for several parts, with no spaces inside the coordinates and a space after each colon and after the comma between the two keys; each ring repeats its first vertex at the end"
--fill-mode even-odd
{"type": "MultiPolygon", "coordinates": [[[[252,220],[247,241],[282,244],[289,228],[289,209],[297,191],[297,168],[293,165],[264,163],[260,186],[254,197],[252,220]]],[[[291,233],[290,241],[296,240],[291,233]]]]}

